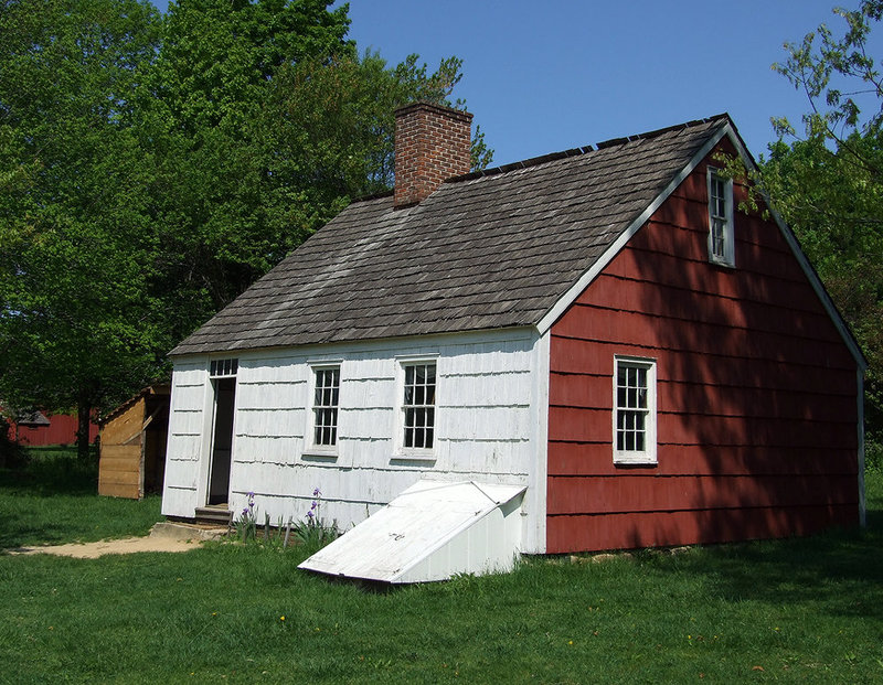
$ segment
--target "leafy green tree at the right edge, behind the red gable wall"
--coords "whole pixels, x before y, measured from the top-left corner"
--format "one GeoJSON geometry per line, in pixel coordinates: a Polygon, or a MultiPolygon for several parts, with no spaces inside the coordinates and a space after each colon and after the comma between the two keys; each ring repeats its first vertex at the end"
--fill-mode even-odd
{"type": "Polygon", "coordinates": [[[883,0],[837,9],[845,31],[825,24],[774,68],[802,90],[802,131],[779,135],[760,163],[760,184],[797,234],[869,361],[869,461],[883,462],[883,77],[868,52],[883,0]]]}

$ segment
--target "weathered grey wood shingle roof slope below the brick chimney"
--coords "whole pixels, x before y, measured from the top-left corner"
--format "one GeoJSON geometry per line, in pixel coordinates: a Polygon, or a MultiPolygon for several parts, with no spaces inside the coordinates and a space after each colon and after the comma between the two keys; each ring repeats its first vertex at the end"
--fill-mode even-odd
{"type": "Polygon", "coordinates": [[[533,325],[725,115],[350,204],[173,355],[533,325]]]}

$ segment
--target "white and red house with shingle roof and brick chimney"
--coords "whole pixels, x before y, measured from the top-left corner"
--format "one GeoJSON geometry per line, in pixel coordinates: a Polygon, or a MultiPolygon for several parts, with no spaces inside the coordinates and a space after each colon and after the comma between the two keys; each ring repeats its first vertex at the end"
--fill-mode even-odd
{"type": "Polygon", "coordinates": [[[471,481],[523,492],[530,554],[862,522],[865,362],[787,226],[736,208],[726,115],[475,173],[470,115],[396,116],[395,192],[172,352],[164,514],[319,488],[345,528],[471,481]]]}

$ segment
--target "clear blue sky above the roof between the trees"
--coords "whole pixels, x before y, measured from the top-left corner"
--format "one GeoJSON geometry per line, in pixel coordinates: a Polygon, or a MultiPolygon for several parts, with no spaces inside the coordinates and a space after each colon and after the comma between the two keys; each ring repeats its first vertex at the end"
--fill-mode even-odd
{"type": "Polygon", "coordinates": [[[350,38],[391,64],[460,57],[494,165],[722,111],[757,157],[772,116],[807,109],[770,65],[821,22],[841,33],[837,4],[858,0],[352,0],[350,38]]]}

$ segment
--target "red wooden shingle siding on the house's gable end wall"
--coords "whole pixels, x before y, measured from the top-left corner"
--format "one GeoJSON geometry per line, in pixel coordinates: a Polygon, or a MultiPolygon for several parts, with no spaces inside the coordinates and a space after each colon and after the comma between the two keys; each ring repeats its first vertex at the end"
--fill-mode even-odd
{"type": "Polygon", "coordinates": [[[549,553],[858,523],[855,361],[773,222],[709,264],[705,172],[552,328],[549,553]],[[655,467],[613,463],[615,354],[657,361],[655,467]]]}

